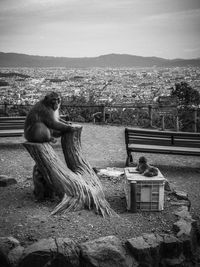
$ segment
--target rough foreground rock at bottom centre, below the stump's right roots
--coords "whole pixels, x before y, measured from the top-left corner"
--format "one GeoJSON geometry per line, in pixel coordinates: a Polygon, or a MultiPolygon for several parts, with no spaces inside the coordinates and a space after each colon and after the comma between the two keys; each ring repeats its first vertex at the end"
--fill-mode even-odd
{"type": "MultiPolygon", "coordinates": [[[[84,267],[128,267],[125,249],[115,236],[106,236],[80,245],[84,267]]],[[[133,265],[135,266],[135,265],[133,265]]]]}

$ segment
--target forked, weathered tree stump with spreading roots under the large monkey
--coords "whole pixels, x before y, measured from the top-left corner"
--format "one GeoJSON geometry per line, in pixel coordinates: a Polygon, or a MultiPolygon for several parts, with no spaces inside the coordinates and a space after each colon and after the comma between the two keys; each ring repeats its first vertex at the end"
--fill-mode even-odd
{"type": "Polygon", "coordinates": [[[87,208],[103,216],[114,215],[98,176],[83,156],[81,131],[81,126],[72,126],[72,130],[61,137],[66,164],[49,143],[25,142],[23,145],[35,160],[48,188],[62,197],[51,214],[87,208]]]}

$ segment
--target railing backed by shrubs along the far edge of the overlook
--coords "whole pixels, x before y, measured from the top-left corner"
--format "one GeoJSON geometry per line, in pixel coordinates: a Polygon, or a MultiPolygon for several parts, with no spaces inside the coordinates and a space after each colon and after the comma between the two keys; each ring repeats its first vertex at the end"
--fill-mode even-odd
{"type": "MultiPolygon", "coordinates": [[[[32,105],[1,104],[0,116],[26,116],[32,105]]],[[[71,121],[100,122],[145,128],[200,131],[200,109],[190,108],[188,120],[174,106],[138,103],[133,105],[62,105],[60,113],[71,121]],[[184,125],[183,125],[184,124],[184,125]],[[188,130],[189,129],[189,130],[188,130]]]]}

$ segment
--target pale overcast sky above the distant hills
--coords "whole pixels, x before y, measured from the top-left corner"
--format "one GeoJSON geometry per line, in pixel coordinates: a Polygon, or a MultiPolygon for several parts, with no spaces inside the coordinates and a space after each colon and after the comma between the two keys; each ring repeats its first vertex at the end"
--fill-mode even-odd
{"type": "Polygon", "coordinates": [[[0,0],[0,51],[200,57],[200,0],[0,0]]]}

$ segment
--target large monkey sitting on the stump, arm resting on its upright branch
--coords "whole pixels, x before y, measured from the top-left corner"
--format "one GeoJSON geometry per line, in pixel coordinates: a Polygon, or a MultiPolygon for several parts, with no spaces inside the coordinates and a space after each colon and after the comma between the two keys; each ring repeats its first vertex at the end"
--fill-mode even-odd
{"type": "Polygon", "coordinates": [[[71,123],[60,118],[60,104],[60,96],[51,92],[32,107],[24,123],[24,137],[27,141],[55,143],[55,138],[60,137],[64,132],[73,130],[71,123]]]}

